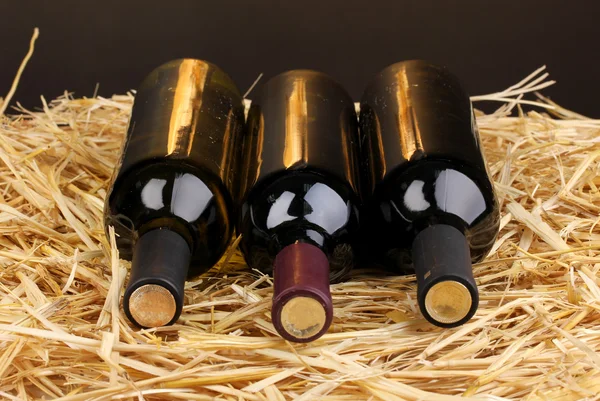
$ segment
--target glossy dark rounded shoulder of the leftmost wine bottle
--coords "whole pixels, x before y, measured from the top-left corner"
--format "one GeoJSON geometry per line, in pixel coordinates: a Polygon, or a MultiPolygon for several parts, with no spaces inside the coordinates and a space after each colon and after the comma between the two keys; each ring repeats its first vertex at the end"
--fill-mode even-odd
{"type": "Polygon", "coordinates": [[[114,182],[105,226],[115,227],[125,258],[140,235],[169,228],[188,241],[194,259],[198,252],[215,253],[212,260],[231,237],[232,213],[231,196],[218,177],[186,163],[156,161],[134,166],[114,182]],[[211,246],[215,252],[206,251],[211,246]]]}

